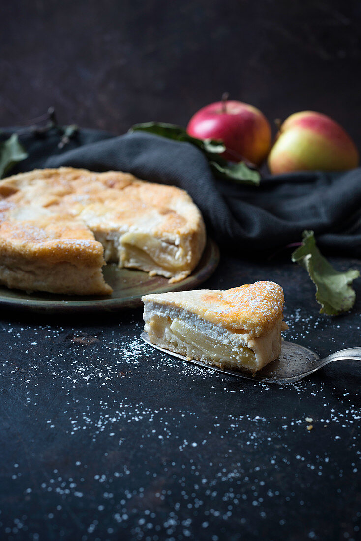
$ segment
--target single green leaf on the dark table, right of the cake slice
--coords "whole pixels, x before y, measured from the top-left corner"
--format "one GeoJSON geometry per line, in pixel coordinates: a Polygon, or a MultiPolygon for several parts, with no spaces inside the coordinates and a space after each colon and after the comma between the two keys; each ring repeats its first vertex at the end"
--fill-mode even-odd
{"type": "Polygon", "coordinates": [[[316,285],[316,300],[321,305],[320,314],[338,315],[349,311],[355,303],[353,280],[359,277],[357,269],[338,272],[320,253],[313,231],[303,232],[302,245],[294,250],[292,261],[305,267],[316,285]]]}

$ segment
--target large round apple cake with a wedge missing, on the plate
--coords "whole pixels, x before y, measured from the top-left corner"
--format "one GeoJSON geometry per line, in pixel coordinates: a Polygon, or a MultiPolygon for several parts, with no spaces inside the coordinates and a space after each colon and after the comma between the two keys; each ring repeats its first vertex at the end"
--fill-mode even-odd
{"type": "Polygon", "coordinates": [[[0,282],[10,288],[110,294],[108,261],[179,281],[205,239],[184,190],[129,173],[63,167],[0,182],[0,282]]]}

